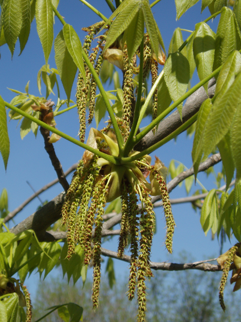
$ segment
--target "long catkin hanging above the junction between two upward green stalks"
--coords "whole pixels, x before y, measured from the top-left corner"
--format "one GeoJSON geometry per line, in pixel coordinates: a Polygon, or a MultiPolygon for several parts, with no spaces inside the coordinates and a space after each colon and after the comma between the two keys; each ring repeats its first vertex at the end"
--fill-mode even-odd
{"type": "Polygon", "coordinates": [[[127,45],[123,49],[123,65],[124,65],[124,84],[123,84],[123,128],[125,129],[125,141],[128,138],[133,115],[132,106],[134,104],[134,86],[133,86],[133,59],[129,63],[127,45]]]}

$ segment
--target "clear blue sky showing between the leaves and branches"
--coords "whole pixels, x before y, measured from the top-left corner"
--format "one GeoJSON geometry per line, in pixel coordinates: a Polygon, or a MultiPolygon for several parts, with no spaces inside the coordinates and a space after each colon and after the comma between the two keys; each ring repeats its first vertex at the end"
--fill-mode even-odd
{"type": "MultiPolygon", "coordinates": [[[[109,16],[110,10],[105,1],[102,0],[90,0],[93,6],[95,6],[105,16],[109,16]]],[[[60,1],[59,12],[64,17],[65,21],[73,25],[76,32],[79,34],[81,41],[85,36],[85,33],[81,31],[82,27],[87,27],[96,21],[99,21],[91,10],[84,6],[80,1],[60,1]]],[[[174,0],[162,0],[153,8],[154,17],[159,25],[165,47],[168,50],[169,42],[171,40],[173,31],[175,28],[180,27],[183,29],[194,30],[195,24],[203,21],[210,16],[209,11],[206,9],[200,15],[201,1],[192,7],[188,12],[183,15],[179,21],[176,21],[176,10],[174,0]]],[[[217,20],[209,23],[211,28],[216,31],[217,20]]],[[[55,20],[55,37],[62,28],[58,19],[55,20]]],[[[183,32],[183,38],[185,39],[189,35],[188,32],[183,32]]],[[[0,95],[5,101],[10,102],[14,97],[14,93],[9,91],[8,88],[17,89],[23,91],[28,81],[30,81],[29,92],[36,96],[39,95],[37,88],[37,72],[44,65],[44,55],[37,37],[36,23],[32,24],[31,34],[26,48],[21,56],[19,54],[19,45],[16,45],[13,60],[11,60],[11,53],[4,45],[0,48],[1,60],[0,60],[0,95]]],[[[55,67],[54,50],[51,53],[49,59],[50,67],[55,67]]],[[[196,84],[198,78],[196,74],[193,77],[192,85],[196,84]]],[[[75,101],[75,87],[76,82],[73,85],[72,100],[75,101]]],[[[43,91],[44,92],[44,91],[43,91]]],[[[57,91],[56,91],[57,92],[57,91]]],[[[42,93],[44,94],[44,93],[42,93]]],[[[56,96],[51,96],[53,101],[56,101],[56,96]]],[[[61,86],[61,98],[65,99],[65,93],[61,86]]],[[[75,109],[56,117],[57,128],[68,135],[77,138],[78,134],[78,116],[75,109]]],[[[9,123],[9,136],[11,142],[11,152],[9,158],[9,164],[7,173],[4,170],[4,164],[2,158],[0,159],[0,191],[5,187],[9,194],[9,209],[14,210],[24,200],[26,200],[32,191],[26,181],[29,181],[35,190],[40,189],[42,186],[56,178],[56,174],[50,163],[49,156],[44,150],[43,138],[38,133],[35,139],[33,133],[29,133],[23,140],[20,137],[20,127],[17,127],[17,121],[11,121],[9,123]]],[[[76,163],[82,157],[83,150],[64,140],[63,138],[54,145],[56,154],[59,157],[64,171],[66,171],[72,164],[76,163]]],[[[182,134],[175,142],[172,140],[165,146],[161,147],[156,155],[165,163],[169,165],[171,159],[176,159],[183,163],[186,167],[192,166],[191,161],[191,148],[192,138],[186,138],[186,134],[182,134]]],[[[154,155],[153,155],[154,157],[154,155]]],[[[220,165],[216,166],[216,169],[220,169],[220,165]]],[[[214,178],[209,177],[206,179],[206,175],[200,174],[198,179],[207,189],[214,187],[214,178]]],[[[68,177],[70,181],[70,176],[68,177]]],[[[53,188],[47,190],[40,195],[42,200],[51,200],[57,194],[62,191],[62,187],[57,184],[53,188]]],[[[192,192],[194,192],[194,189],[192,192]]],[[[177,187],[172,193],[171,198],[186,196],[184,188],[177,187]]],[[[15,224],[22,221],[27,216],[36,211],[40,202],[36,198],[31,204],[24,208],[24,210],[14,218],[15,224]]],[[[161,208],[156,209],[157,214],[157,234],[154,236],[153,248],[152,248],[152,261],[172,261],[172,256],[167,254],[164,245],[165,237],[165,221],[163,218],[163,210],[161,208]]],[[[219,245],[215,240],[211,241],[210,233],[205,236],[201,229],[199,222],[199,213],[195,213],[189,204],[175,205],[173,206],[173,214],[176,220],[177,228],[174,234],[173,250],[174,256],[186,250],[190,252],[195,260],[207,259],[210,256],[217,257],[219,254],[219,245]]],[[[11,223],[13,226],[13,223],[11,223]]],[[[103,244],[103,247],[116,251],[116,239],[111,242],[103,244]]],[[[234,243],[234,240],[232,241],[234,243]]],[[[229,243],[226,243],[224,250],[229,248],[229,243]]],[[[127,275],[128,264],[121,261],[115,261],[116,275],[127,275]]],[[[89,276],[90,276],[89,272],[89,276]]],[[[28,281],[25,282],[28,285],[28,281]]],[[[30,290],[33,286],[30,287],[30,290]]]]}

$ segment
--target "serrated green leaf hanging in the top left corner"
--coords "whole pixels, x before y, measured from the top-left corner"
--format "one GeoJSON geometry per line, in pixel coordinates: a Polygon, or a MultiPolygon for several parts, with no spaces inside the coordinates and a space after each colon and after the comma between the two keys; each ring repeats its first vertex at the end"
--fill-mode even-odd
{"type": "Polygon", "coordinates": [[[15,44],[22,27],[21,0],[7,0],[4,2],[3,24],[4,36],[13,57],[15,44]]]}

